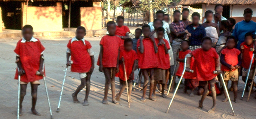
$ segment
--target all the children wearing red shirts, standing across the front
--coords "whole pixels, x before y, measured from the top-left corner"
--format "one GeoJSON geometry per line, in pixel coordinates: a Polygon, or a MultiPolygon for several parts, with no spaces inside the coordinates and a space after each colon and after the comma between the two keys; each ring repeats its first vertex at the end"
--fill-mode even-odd
{"type": "MultiPolygon", "coordinates": [[[[146,90],[149,85],[149,99],[156,101],[156,84],[162,86],[161,97],[166,98],[164,89],[169,79],[167,71],[170,69],[170,43],[164,38],[165,29],[160,20],[154,20],[154,31],[150,30],[149,25],[143,25],[142,29],[135,30],[135,38],[129,38],[129,28],[123,25],[124,17],[117,17],[117,25],[113,21],[107,23],[108,34],[103,36],[100,41],[100,54],[97,65],[99,71],[105,75],[105,91],[103,104],[108,104],[108,90],[111,85],[112,103],[118,104],[122,92],[126,87],[129,88],[129,97],[131,97],[132,83],[134,79],[134,71],[138,68],[144,76],[143,94],[141,101],[146,101],[146,90]],[[143,36],[142,36],[143,34],[143,36]],[[126,73],[124,73],[124,67],[126,73]],[[126,75],[125,75],[126,74],[126,75]],[[115,76],[120,79],[121,90],[116,93],[115,76]],[[126,86],[126,79],[128,86],[126,86]]],[[[40,115],[36,109],[37,86],[40,84],[38,80],[45,75],[44,71],[44,47],[39,39],[33,37],[33,27],[25,25],[22,28],[23,38],[18,41],[14,50],[16,55],[17,71],[15,79],[18,75],[21,77],[21,98],[20,98],[20,115],[22,115],[22,101],[26,94],[27,83],[31,82],[32,88],[32,112],[35,115],[40,115]],[[40,73],[36,75],[36,72],[40,73]]],[[[89,41],[85,40],[86,29],[79,26],[76,29],[76,36],[69,40],[66,52],[66,66],[71,66],[72,72],[78,72],[81,84],[72,94],[74,103],[80,103],[77,99],[78,93],[86,86],[86,95],[84,106],[89,105],[88,96],[90,93],[90,77],[94,71],[94,52],[91,49],[89,41]],[[70,58],[71,56],[71,58],[70,58]]],[[[185,89],[191,89],[190,96],[193,96],[193,90],[201,86],[203,87],[202,98],[199,101],[198,108],[203,108],[203,101],[209,93],[212,92],[213,107],[208,112],[214,112],[216,108],[216,91],[215,77],[217,74],[224,72],[225,85],[228,81],[232,81],[234,88],[234,101],[237,102],[238,92],[238,69],[242,67],[242,79],[248,72],[250,60],[253,54],[254,40],[251,33],[245,34],[245,42],[241,44],[241,51],[236,49],[237,40],[233,36],[228,36],[226,45],[220,50],[220,57],[216,50],[212,48],[212,39],[204,37],[202,39],[202,48],[196,50],[189,49],[189,42],[183,40],[181,49],[178,51],[177,61],[180,62],[177,76],[181,76],[183,67],[186,65],[185,89]],[[187,58],[187,64],[184,64],[184,59],[187,58]],[[220,66],[220,63],[222,64],[220,66]],[[217,74],[214,74],[217,71],[217,74]],[[208,88],[208,85],[210,88],[208,88]]],[[[249,79],[254,80],[250,72],[249,79]]],[[[228,101],[227,94],[223,102],[228,101]]]]}

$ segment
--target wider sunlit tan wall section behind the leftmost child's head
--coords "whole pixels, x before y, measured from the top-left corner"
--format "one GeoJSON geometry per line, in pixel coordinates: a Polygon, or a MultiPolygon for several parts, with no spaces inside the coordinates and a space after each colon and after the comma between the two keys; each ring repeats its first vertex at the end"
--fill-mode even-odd
{"type": "Polygon", "coordinates": [[[62,31],[62,3],[57,2],[56,7],[27,7],[24,3],[22,25],[26,24],[35,32],[62,31]]]}

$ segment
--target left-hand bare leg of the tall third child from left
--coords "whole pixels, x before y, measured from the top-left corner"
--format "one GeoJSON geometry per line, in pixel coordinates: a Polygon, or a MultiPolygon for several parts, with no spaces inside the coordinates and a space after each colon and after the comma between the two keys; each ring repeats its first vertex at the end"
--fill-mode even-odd
{"type": "Polygon", "coordinates": [[[104,68],[103,70],[104,70],[106,82],[105,82],[105,89],[104,89],[104,98],[102,100],[102,103],[108,104],[107,95],[108,95],[108,90],[109,90],[110,81],[111,81],[111,78],[110,78],[111,71],[110,71],[110,68],[104,68]]]}

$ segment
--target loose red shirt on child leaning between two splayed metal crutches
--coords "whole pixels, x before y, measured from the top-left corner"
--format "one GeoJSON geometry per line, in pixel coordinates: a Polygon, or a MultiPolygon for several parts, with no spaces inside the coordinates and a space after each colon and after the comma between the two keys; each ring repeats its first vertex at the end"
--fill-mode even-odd
{"type": "Polygon", "coordinates": [[[219,55],[214,48],[210,48],[208,51],[198,48],[191,54],[194,57],[193,74],[196,74],[198,81],[209,81],[217,76],[213,74],[213,71],[216,70],[215,60],[219,58],[219,55]]]}

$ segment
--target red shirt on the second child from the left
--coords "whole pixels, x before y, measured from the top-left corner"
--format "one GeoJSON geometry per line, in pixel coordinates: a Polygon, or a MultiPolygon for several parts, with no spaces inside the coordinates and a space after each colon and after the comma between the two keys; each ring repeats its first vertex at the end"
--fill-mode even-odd
{"type": "Polygon", "coordinates": [[[71,52],[71,61],[73,64],[71,65],[72,72],[84,73],[89,72],[91,68],[91,56],[88,53],[88,49],[91,49],[91,44],[89,41],[84,40],[85,44],[82,40],[73,41],[71,43],[69,40],[67,47],[71,52]]]}

